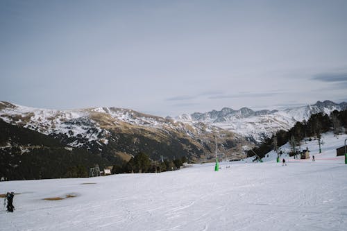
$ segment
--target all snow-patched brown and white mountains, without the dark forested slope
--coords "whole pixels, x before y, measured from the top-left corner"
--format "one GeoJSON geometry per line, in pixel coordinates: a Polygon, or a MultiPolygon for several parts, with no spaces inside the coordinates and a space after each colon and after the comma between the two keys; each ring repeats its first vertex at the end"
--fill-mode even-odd
{"type": "Polygon", "coordinates": [[[219,153],[237,159],[244,157],[244,149],[278,130],[289,130],[311,114],[345,109],[347,103],[318,101],[286,110],[223,108],[169,119],[122,108],[49,110],[0,101],[0,120],[48,135],[70,148],[86,148],[108,160],[129,158],[139,151],[149,153],[153,160],[160,155],[208,160],[214,156],[216,134],[219,153]]]}

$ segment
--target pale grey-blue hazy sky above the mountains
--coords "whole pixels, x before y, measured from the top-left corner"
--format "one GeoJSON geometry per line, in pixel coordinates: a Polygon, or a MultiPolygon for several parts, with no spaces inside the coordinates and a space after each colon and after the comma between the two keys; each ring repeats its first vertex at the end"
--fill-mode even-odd
{"type": "Polygon", "coordinates": [[[0,101],[165,117],[346,88],[347,1],[0,1],[0,101]]]}

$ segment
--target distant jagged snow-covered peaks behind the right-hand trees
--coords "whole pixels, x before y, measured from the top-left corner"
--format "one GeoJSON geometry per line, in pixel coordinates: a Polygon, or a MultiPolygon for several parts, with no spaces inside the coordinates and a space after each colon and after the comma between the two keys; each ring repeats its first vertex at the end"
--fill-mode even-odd
{"type": "Polygon", "coordinates": [[[332,101],[317,101],[314,105],[305,105],[286,110],[260,110],[249,108],[233,110],[223,108],[220,111],[195,112],[183,114],[175,119],[184,123],[194,124],[203,122],[235,132],[252,142],[260,143],[265,137],[271,137],[278,130],[289,130],[297,121],[308,120],[312,114],[323,112],[330,114],[334,110],[346,110],[347,103],[334,103],[332,101]]]}

